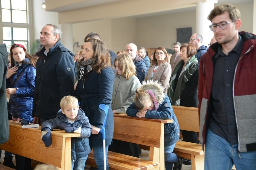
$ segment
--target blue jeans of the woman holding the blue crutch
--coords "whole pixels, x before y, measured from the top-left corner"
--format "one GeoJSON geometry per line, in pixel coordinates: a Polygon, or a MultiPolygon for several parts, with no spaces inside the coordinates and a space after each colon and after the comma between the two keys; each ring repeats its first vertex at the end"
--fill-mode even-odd
{"type": "MultiPolygon", "coordinates": [[[[96,146],[96,147],[93,147],[92,149],[94,153],[94,160],[96,162],[98,170],[104,170],[103,146],[96,146]]],[[[106,145],[106,169],[109,170],[108,161],[107,161],[107,151],[108,151],[108,145],[106,145]]]]}

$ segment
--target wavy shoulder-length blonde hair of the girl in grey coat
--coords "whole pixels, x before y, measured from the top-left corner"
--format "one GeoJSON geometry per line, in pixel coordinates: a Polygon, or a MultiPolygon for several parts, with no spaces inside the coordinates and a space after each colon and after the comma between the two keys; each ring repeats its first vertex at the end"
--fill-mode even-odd
{"type": "MultiPolygon", "coordinates": [[[[136,75],[136,67],[133,63],[133,60],[130,54],[120,54],[114,60],[114,67],[118,65],[119,70],[121,70],[121,75],[129,80],[133,75],[136,75]]],[[[115,75],[119,77],[120,75],[116,72],[115,75]]]]}

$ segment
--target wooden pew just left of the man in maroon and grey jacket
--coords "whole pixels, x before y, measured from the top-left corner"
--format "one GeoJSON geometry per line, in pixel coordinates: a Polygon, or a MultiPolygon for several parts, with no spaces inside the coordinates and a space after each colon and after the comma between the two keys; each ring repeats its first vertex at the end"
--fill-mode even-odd
{"type": "MultiPolygon", "coordinates": [[[[181,130],[199,132],[198,108],[172,106],[181,130]]],[[[174,151],[180,157],[191,160],[192,170],[204,169],[204,151],[202,145],[178,141],[175,144],[174,151]]]]}

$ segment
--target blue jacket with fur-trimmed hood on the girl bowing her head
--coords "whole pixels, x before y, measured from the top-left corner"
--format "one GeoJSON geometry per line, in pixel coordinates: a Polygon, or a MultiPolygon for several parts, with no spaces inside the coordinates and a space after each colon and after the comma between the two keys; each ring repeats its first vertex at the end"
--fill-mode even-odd
{"type": "MultiPolygon", "coordinates": [[[[173,119],[173,123],[166,123],[164,127],[164,146],[170,146],[176,143],[180,137],[180,128],[178,120],[173,113],[173,109],[170,103],[169,97],[163,93],[164,88],[158,82],[144,81],[140,89],[151,91],[155,96],[158,103],[157,111],[148,110],[145,118],[148,119],[173,119]]],[[[131,104],[127,108],[126,114],[128,116],[137,117],[136,113],[138,112],[138,107],[134,104],[131,104]]]]}

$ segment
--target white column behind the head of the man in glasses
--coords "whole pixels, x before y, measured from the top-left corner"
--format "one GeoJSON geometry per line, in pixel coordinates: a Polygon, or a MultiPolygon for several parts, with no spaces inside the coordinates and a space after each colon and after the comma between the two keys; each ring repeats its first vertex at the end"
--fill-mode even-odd
{"type": "Polygon", "coordinates": [[[214,33],[209,29],[211,22],[207,19],[210,11],[214,9],[214,3],[217,3],[217,0],[208,0],[206,2],[197,2],[196,3],[196,32],[203,37],[202,44],[208,47],[211,38],[214,36],[214,33]]]}

